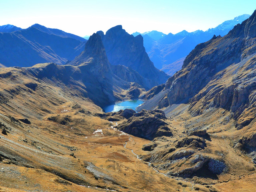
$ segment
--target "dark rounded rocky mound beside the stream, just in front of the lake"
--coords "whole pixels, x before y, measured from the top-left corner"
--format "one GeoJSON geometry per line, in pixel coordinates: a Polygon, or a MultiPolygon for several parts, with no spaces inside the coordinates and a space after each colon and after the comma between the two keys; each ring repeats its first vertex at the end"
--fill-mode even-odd
{"type": "Polygon", "coordinates": [[[165,120],[166,117],[163,111],[142,110],[118,125],[117,129],[150,140],[160,136],[172,136],[172,132],[165,120]]]}

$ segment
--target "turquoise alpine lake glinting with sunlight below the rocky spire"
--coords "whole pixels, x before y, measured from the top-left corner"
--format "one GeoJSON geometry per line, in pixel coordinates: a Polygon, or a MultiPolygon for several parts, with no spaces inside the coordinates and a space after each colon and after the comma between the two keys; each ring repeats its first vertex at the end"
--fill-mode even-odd
{"type": "Polygon", "coordinates": [[[132,100],[132,101],[123,101],[121,103],[116,103],[113,105],[109,105],[103,108],[105,113],[107,112],[117,112],[121,109],[133,109],[135,111],[136,107],[142,104],[143,101],[141,100],[132,100]]]}

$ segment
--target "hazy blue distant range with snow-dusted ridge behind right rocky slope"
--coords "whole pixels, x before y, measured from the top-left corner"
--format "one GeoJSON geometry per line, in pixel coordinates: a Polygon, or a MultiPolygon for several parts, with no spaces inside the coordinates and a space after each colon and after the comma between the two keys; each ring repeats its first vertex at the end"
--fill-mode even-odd
{"type": "MultiPolygon", "coordinates": [[[[207,31],[197,30],[189,33],[183,30],[177,34],[169,33],[168,35],[152,31],[141,35],[144,39],[146,52],[155,67],[172,76],[181,69],[184,59],[197,44],[210,40],[213,35],[226,35],[235,25],[242,23],[249,17],[250,15],[244,14],[207,31]],[[162,38],[159,38],[160,34],[163,34],[162,38]]],[[[133,33],[134,36],[137,34],[139,33],[133,33]]]]}

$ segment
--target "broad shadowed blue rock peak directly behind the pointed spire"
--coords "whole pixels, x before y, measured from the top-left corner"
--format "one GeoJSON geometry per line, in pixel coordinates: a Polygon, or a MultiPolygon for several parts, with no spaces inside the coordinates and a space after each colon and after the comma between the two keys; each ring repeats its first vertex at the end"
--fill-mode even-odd
{"type": "Polygon", "coordinates": [[[121,25],[112,27],[106,34],[97,32],[106,49],[106,54],[112,65],[124,65],[137,71],[143,78],[150,79],[150,87],[164,83],[169,77],[156,69],[150,61],[143,46],[141,35],[134,37],[128,34],[121,25]]]}

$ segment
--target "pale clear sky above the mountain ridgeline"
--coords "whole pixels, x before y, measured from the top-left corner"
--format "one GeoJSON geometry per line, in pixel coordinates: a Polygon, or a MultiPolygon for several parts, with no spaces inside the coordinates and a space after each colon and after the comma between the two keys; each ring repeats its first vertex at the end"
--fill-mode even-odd
{"type": "Polygon", "coordinates": [[[0,25],[35,23],[79,36],[122,25],[128,33],[207,30],[242,14],[256,0],[0,0],[0,25]]]}

